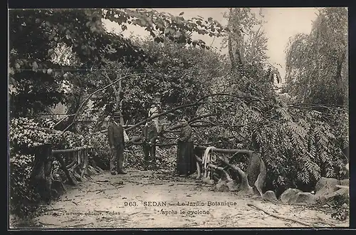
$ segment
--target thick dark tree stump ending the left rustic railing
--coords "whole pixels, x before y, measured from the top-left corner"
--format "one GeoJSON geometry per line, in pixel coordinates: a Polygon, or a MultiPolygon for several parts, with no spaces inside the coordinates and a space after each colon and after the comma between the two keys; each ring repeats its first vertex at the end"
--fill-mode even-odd
{"type": "Polygon", "coordinates": [[[45,202],[51,200],[52,162],[52,145],[39,145],[35,148],[31,184],[33,191],[45,202]]]}

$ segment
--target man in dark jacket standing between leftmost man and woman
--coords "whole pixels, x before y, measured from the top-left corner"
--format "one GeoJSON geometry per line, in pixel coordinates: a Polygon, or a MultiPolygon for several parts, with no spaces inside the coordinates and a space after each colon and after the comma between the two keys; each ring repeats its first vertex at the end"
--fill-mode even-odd
{"type": "Polygon", "coordinates": [[[142,136],[143,136],[143,152],[145,153],[145,161],[146,161],[146,168],[148,166],[148,162],[152,161],[155,162],[156,160],[156,140],[158,136],[158,130],[154,122],[150,122],[142,129],[142,136]],[[150,157],[151,155],[151,157],[150,157]]]}

